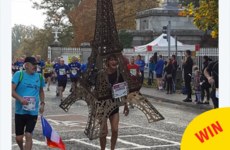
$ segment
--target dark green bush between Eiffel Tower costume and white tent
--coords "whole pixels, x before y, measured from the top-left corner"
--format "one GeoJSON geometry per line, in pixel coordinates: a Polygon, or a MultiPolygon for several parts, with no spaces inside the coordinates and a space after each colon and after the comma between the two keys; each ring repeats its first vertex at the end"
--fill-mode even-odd
{"type": "Polygon", "coordinates": [[[133,36],[132,33],[127,30],[120,30],[118,33],[119,41],[123,45],[123,48],[131,48],[133,36]]]}

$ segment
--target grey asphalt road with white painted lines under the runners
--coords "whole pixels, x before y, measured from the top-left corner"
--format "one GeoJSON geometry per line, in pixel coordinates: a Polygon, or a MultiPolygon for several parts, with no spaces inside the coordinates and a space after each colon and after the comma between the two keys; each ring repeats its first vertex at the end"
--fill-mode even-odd
{"type": "MultiPolygon", "coordinates": [[[[64,97],[67,97],[70,89],[68,83],[64,97]]],[[[84,101],[76,102],[65,113],[59,108],[60,100],[55,96],[55,86],[51,84],[50,91],[45,90],[44,117],[57,131],[66,145],[66,150],[99,150],[99,140],[90,141],[84,134],[87,121],[88,107],[84,101]]],[[[119,136],[116,145],[117,150],[179,150],[180,142],[187,125],[205,110],[180,106],[176,104],[156,102],[149,99],[156,109],[165,117],[165,120],[156,123],[148,123],[145,115],[131,109],[130,114],[123,115],[123,107],[120,107],[119,136]]],[[[14,100],[12,99],[12,149],[20,150],[15,142],[14,132],[14,100]]],[[[110,149],[110,134],[107,136],[107,149],[110,149]]],[[[51,150],[46,145],[42,134],[41,119],[38,118],[34,135],[33,150],[51,150]]]]}

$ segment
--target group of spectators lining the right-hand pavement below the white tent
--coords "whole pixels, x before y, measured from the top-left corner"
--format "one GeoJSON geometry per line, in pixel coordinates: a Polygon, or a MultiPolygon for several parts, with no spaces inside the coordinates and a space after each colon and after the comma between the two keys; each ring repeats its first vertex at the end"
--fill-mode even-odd
{"type": "MultiPolygon", "coordinates": [[[[128,59],[124,55],[127,63],[128,59]]],[[[135,59],[133,56],[130,60],[135,59]]],[[[185,59],[181,60],[184,83],[186,88],[187,98],[183,102],[194,102],[195,104],[209,104],[210,98],[212,98],[214,108],[218,108],[218,60],[212,61],[208,56],[203,56],[203,68],[199,68],[195,65],[191,58],[191,51],[185,51],[185,59]],[[191,82],[193,87],[191,87],[191,82]],[[210,92],[211,88],[211,92],[210,92]],[[192,90],[196,95],[196,99],[192,101],[192,90]],[[206,94],[205,94],[206,92],[206,94]],[[205,100],[206,95],[206,100],[205,100]]],[[[157,53],[150,57],[149,62],[145,63],[138,55],[136,60],[136,68],[142,77],[142,83],[144,79],[144,67],[148,67],[149,80],[154,83],[154,74],[156,74],[157,86],[159,90],[166,90],[166,94],[173,94],[176,92],[176,74],[178,70],[178,63],[176,56],[172,55],[170,58],[163,60],[162,55],[157,58],[157,53]],[[154,73],[155,72],[155,73],[154,73]]],[[[128,65],[130,68],[130,65],[128,65]]],[[[131,75],[133,70],[130,70],[131,75]]],[[[181,84],[181,83],[179,83],[181,84]]]]}

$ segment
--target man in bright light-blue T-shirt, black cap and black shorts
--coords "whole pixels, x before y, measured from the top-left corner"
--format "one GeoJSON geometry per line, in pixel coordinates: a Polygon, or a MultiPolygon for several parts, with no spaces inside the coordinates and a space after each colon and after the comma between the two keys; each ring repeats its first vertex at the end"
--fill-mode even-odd
{"type": "Polygon", "coordinates": [[[26,57],[25,71],[18,71],[12,78],[12,97],[15,98],[15,133],[16,142],[23,150],[25,132],[25,150],[32,149],[32,135],[37,122],[38,109],[43,114],[45,81],[37,73],[39,63],[33,57],[26,57]]]}

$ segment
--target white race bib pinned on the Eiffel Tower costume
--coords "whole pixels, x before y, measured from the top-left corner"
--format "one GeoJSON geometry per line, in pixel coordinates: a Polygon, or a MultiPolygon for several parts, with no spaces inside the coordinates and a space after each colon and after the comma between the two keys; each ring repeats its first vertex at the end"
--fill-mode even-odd
{"type": "Polygon", "coordinates": [[[113,85],[112,90],[113,90],[112,91],[113,98],[120,98],[122,96],[126,96],[128,94],[127,83],[122,82],[122,83],[115,84],[113,85]]]}

